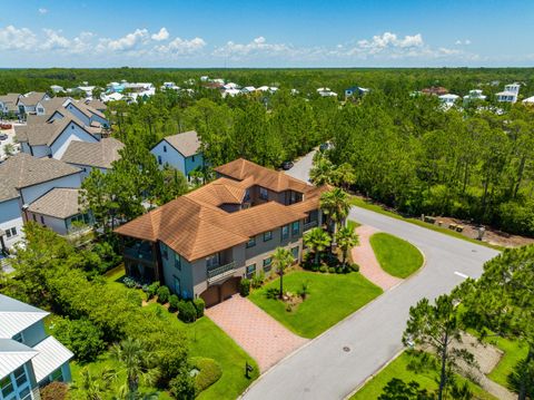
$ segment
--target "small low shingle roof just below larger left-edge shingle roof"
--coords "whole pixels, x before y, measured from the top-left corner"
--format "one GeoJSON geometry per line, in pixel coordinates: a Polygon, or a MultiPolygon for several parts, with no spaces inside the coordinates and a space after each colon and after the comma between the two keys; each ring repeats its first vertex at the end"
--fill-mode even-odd
{"type": "Polygon", "coordinates": [[[61,219],[68,218],[80,213],[79,193],[77,188],[56,187],[31,203],[28,211],[61,219]]]}

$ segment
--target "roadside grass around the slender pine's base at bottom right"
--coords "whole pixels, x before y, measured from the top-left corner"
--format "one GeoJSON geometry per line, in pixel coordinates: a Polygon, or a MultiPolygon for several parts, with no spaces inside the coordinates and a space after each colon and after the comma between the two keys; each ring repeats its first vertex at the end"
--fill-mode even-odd
{"type": "MultiPolygon", "coordinates": [[[[408,364],[415,359],[414,355],[408,352],[402,353],[394,361],[392,361],[384,370],[382,370],[376,377],[369,380],[362,389],[359,389],[350,400],[375,400],[382,394],[384,387],[393,378],[400,379],[405,382],[416,381],[422,389],[434,391],[437,389],[437,371],[432,369],[418,369],[413,371],[408,369],[408,364]]],[[[464,383],[466,379],[457,377],[458,383],[464,383]]],[[[471,391],[476,399],[493,400],[495,397],[485,392],[481,387],[475,383],[468,382],[471,391]]]]}

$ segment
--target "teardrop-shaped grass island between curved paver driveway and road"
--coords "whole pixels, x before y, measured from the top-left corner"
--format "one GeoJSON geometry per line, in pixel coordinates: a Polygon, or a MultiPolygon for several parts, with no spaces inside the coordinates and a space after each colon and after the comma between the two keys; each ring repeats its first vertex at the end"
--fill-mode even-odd
{"type": "Polygon", "coordinates": [[[407,277],[423,265],[423,254],[413,244],[388,233],[375,233],[370,245],[380,266],[389,275],[407,277]]]}

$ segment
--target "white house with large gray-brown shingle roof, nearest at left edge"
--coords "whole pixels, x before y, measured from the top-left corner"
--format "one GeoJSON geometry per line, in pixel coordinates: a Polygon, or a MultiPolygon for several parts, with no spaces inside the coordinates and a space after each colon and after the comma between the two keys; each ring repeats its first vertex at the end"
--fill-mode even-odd
{"type": "Polygon", "coordinates": [[[0,230],[10,248],[22,238],[26,211],[56,187],[77,188],[80,169],[53,158],[36,158],[24,153],[0,164],[0,230]]]}

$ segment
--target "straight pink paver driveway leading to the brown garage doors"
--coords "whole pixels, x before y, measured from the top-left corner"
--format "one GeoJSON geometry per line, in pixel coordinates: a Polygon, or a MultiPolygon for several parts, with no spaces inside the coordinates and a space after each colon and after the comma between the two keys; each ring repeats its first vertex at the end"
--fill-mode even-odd
{"type": "Polygon", "coordinates": [[[308,341],[238,294],[207,309],[206,315],[256,360],[260,372],[308,341]]]}

